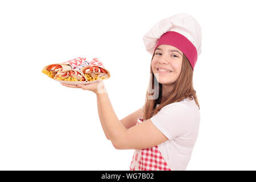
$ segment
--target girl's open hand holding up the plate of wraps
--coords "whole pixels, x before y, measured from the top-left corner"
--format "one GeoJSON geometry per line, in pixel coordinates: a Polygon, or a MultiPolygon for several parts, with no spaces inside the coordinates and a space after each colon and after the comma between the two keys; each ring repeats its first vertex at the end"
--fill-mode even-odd
{"type": "Polygon", "coordinates": [[[79,84],[79,85],[70,85],[70,84],[61,83],[61,85],[67,86],[70,88],[81,88],[83,90],[90,90],[96,94],[106,93],[106,89],[103,81],[95,81],[95,82],[92,82],[91,84],[79,84]]]}

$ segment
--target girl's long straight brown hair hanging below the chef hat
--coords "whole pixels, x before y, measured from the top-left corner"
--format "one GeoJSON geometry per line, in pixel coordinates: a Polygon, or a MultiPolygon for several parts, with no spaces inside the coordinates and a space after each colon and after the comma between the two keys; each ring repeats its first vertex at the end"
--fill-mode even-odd
{"type": "MultiPolygon", "coordinates": [[[[152,56],[153,59],[154,55],[152,56]]],[[[151,61],[152,61],[151,59],[151,61]]],[[[153,115],[158,113],[160,109],[164,106],[182,101],[184,98],[190,98],[190,100],[195,100],[196,105],[199,107],[199,102],[197,100],[196,91],[193,88],[193,69],[191,64],[189,63],[187,56],[183,53],[183,60],[181,65],[181,72],[179,77],[174,83],[174,89],[171,92],[168,92],[164,96],[162,96],[162,84],[156,80],[154,73],[152,72],[152,67],[150,64],[150,82],[148,84],[148,89],[146,92],[146,100],[143,107],[143,119],[150,119],[153,115]],[[159,84],[157,87],[158,90],[154,89],[154,85],[159,84]],[[150,93],[149,90],[152,88],[154,90],[153,93],[150,93]],[[152,97],[156,92],[158,92],[159,96],[156,99],[147,99],[152,97]],[[156,105],[159,104],[158,107],[156,105]]]]}

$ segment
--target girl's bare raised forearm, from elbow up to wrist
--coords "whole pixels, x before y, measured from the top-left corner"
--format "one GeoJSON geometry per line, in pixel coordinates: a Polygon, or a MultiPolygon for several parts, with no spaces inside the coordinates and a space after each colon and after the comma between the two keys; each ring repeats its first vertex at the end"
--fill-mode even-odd
{"type": "Polygon", "coordinates": [[[127,129],[115,115],[108,93],[97,93],[97,99],[100,106],[102,124],[105,126],[106,133],[108,133],[113,145],[117,146],[120,139],[122,139],[121,136],[125,134],[127,129]]]}

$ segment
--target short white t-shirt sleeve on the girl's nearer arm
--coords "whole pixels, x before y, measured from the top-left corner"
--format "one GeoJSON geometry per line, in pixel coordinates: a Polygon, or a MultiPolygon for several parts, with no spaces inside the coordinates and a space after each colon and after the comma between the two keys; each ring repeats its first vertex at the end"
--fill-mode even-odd
{"type": "Polygon", "coordinates": [[[193,113],[189,107],[181,104],[164,106],[150,119],[170,140],[189,133],[194,121],[193,113]]]}

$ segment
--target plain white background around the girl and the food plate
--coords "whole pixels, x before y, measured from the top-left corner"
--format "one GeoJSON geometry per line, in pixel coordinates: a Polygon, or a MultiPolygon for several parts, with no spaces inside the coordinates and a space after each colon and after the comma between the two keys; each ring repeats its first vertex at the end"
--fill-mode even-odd
{"type": "Polygon", "coordinates": [[[144,104],[151,55],[143,35],[159,20],[191,14],[202,53],[193,84],[199,136],[187,170],[255,170],[253,1],[0,1],[1,170],[128,170],[134,150],[105,138],[96,95],[41,71],[98,57],[119,119],[144,104]]]}

